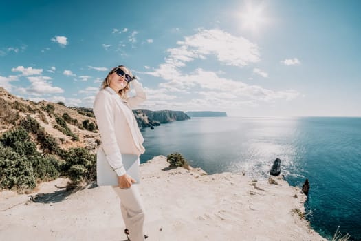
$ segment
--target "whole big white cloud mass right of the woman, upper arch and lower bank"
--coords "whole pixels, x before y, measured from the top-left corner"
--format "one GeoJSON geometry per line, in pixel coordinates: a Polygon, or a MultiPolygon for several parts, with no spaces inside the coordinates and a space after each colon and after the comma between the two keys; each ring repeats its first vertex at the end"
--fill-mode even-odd
{"type": "MultiPolygon", "coordinates": [[[[152,96],[146,107],[175,109],[197,109],[199,105],[211,109],[237,109],[240,106],[256,106],[259,103],[272,103],[276,100],[292,100],[300,94],[295,90],[270,90],[258,85],[248,85],[240,79],[223,78],[223,71],[207,71],[201,68],[187,72],[182,69],[195,59],[206,59],[215,56],[219,63],[243,67],[260,60],[259,48],[241,36],[232,36],[223,30],[198,30],[184,41],[178,41],[176,48],[167,50],[164,63],[152,72],[143,72],[160,77],[165,82],[158,85],[159,90],[148,90],[152,96]],[[182,96],[170,94],[180,92],[182,96]],[[154,96],[154,98],[153,98],[154,96]],[[186,96],[194,96],[188,101],[186,96]],[[162,101],[164,103],[162,103],[162,101]]],[[[148,70],[146,68],[146,70],[148,70]]],[[[253,69],[255,74],[267,78],[268,74],[260,69],[253,69]]]]}

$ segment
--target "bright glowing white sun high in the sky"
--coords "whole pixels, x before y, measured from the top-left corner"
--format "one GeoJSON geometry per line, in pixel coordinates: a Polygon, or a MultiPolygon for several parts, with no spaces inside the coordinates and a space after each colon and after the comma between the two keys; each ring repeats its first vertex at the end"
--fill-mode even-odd
{"type": "Polygon", "coordinates": [[[238,14],[241,19],[242,28],[252,32],[258,32],[266,23],[264,9],[262,4],[256,6],[250,2],[246,3],[238,14]]]}

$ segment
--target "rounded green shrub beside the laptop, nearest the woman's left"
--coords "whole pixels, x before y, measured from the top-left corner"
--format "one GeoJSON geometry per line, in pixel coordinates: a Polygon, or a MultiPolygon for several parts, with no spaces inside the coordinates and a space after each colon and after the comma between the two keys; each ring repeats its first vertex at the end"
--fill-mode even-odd
{"type": "Polygon", "coordinates": [[[85,148],[70,148],[62,151],[61,158],[65,162],[61,165],[62,174],[68,176],[73,184],[96,179],[96,155],[85,148]]]}

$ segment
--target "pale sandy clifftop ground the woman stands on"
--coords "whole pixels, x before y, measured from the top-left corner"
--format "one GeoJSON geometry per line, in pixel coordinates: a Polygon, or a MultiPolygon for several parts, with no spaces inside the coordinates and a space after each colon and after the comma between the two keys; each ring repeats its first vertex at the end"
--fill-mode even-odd
{"type": "MultiPolygon", "coordinates": [[[[147,241],[325,240],[292,211],[304,211],[305,196],[283,180],[272,185],[242,174],[167,167],[164,156],[141,165],[147,241]]],[[[30,194],[1,191],[0,240],[126,240],[111,187],[88,185],[67,195],[66,182],[42,183],[31,193],[36,202],[30,194]]]]}

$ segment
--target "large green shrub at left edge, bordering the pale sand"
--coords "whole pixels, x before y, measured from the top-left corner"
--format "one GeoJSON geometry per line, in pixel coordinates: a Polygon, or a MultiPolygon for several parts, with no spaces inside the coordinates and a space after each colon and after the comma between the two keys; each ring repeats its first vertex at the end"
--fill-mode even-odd
{"type": "Polygon", "coordinates": [[[0,145],[0,169],[0,187],[3,189],[16,188],[23,191],[36,186],[30,161],[3,145],[0,145]]]}

